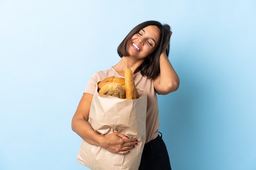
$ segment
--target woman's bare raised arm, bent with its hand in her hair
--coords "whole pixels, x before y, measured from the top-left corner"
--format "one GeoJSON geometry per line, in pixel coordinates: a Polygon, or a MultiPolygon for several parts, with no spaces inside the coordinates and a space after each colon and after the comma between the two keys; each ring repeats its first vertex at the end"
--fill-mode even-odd
{"type": "Polygon", "coordinates": [[[166,49],[160,55],[159,63],[160,74],[153,80],[157,94],[165,95],[174,92],[180,85],[180,79],[166,55],[166,49]]]}

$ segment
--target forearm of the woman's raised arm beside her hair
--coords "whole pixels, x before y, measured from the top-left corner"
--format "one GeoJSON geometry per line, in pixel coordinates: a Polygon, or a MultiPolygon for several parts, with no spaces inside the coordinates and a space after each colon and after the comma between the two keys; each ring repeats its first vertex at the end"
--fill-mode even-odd
{"type": "Polygon", "coordinates": [[[159,83],[164,87],[171,88],[171,91],[177,90],[180,85],[180,79],[173,69],[171,62],[169,61],[166,52],[162,52],[160,55],[160,78],[159,83]]]}

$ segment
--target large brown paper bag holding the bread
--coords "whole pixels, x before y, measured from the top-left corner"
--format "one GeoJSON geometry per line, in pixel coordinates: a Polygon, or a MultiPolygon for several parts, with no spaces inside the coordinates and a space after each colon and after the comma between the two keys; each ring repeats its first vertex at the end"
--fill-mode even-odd
{"type": "Polygon", "coordinates": [[[146,140],[146,90],[138,89],[138,99],[121,99],[99,94],[92,98],[89,123],[106,135],[117,132],[138,139],[138,145],[126,155],[110,153],[82,140],[77,161],[92,170],[137,170],[146,140]]]}

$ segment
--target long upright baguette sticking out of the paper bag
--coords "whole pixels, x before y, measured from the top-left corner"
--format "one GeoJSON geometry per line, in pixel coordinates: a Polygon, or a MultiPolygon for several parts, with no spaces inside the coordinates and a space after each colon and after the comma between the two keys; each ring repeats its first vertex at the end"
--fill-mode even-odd
{"type": "Polygon", "coordinates": [[[124,71],[124,79],[125,79],[125,87],[126,87],[126,98],[127,99],[134,99],[136,98],[136,92],[135,92],[135,84],[133,80],[133,74],[132,70],[130,68],[126,68],[124,71]],[[135,96],[134,96],[135,93],[135,96]]]}

